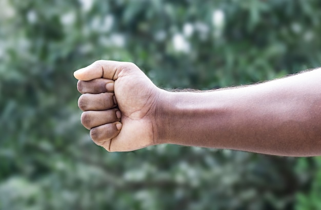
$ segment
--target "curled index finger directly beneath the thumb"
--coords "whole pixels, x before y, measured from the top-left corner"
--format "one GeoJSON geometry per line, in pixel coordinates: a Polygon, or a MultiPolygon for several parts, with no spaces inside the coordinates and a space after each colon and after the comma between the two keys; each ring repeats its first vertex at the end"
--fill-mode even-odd
{"type": "Polygon", "coordinates": [[[98,78],[90,81],[78,80],[77,90],[80,93],[105,93],[114,91],[114,80],[98,78]]]}

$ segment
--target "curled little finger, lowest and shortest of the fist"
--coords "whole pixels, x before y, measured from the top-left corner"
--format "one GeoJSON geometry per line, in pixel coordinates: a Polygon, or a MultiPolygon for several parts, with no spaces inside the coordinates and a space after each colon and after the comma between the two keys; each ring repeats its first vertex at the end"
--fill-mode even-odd
{"type": "Polygon", "coordinates": [[[97,145],[102,145],[104,141],[110,141],[118,135],[122,129],[122,123],[113,122],[103,124],[90,130],[90,137],[97,145]]]}

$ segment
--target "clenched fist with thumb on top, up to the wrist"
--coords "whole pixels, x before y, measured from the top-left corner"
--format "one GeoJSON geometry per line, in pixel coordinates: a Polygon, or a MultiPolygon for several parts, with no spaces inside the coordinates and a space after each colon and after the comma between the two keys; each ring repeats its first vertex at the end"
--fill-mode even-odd
{"type": "Polygon", "coordinates": [[[158,89],[130,62],[99,60],[74,72],[83,95],[78,107],[92,140],[107,151],[133,151],[157,143],[158,89]]]}

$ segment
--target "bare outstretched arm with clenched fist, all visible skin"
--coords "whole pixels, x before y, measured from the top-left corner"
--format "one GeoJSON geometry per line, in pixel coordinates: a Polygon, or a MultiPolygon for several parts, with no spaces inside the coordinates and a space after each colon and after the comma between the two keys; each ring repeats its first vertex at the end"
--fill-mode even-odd
{"type": "Polygon", "coordinates": [[[197,93],[159,89],[129,62],[99,60],[74,76],[82,123],[110,152],[172,143],[321,155],[321,69],[197,93]]]}

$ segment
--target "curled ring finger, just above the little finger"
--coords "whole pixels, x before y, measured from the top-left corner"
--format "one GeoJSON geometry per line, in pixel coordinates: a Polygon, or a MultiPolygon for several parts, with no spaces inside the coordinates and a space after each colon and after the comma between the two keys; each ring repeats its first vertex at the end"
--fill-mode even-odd
{"type": "Polygon", "coordinates": [[[81,121],[84,127],[90,130],[99,125],[120,121],[121,117],[122,113],[118,109],[105,111],[86,111],[83,112],[81,121]]]}

